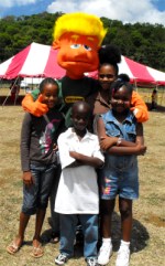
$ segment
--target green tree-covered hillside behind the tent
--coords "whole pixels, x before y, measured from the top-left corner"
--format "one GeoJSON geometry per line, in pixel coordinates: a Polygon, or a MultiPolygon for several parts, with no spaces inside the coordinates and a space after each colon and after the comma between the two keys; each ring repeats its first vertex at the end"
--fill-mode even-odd
{"type": "MultiPolygon", "coordinates": [[[[53,28],[62,12],[6,17],[0,20],[0,62],[13,56],[32,42],[51,45],[53,28]]],[[[123,24],[101,18],[108,33],[103,44],[116,44],[122,55],[165,71],[165,28],[162,24],[123,24]]]]}

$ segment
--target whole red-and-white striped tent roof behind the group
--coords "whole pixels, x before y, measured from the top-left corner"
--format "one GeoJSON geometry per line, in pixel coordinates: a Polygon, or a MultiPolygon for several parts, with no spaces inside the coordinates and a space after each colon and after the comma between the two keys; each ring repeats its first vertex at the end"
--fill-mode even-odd
{"type": "MultiPolygon", "coordinates": [[[[54,77],[61,78],[65,70],[56,62],[57,50],[50,45],[32,43],[20,53],[0,64],[0,78],[16,77],[54,77]]],[[[132,83],[165,85],[165,73],[136,63],[125,56],[119,64],[119,74],[125,73],[132,83]]],[[[97,72],[88,73],[97,76],[97,72]]]]}

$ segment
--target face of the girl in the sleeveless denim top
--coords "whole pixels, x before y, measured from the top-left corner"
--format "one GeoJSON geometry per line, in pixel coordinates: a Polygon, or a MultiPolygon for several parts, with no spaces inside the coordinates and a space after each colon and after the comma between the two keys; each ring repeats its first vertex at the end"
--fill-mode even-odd
{"type": "Polygon", "coordinates": [[[116,93],[112,92],[111,105],[117,113],[123,113],[130,108],[131,94],[125,86],[122,86],[116,93]]]}

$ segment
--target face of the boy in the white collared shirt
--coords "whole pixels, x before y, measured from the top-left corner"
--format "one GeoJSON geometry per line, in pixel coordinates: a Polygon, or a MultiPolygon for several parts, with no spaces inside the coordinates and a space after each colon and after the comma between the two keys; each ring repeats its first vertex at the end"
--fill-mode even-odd
{"type": "Polygon", "coordinates": [[[72,120],[74,128],[84,131],[89,123],[89,109],[84,106],[78,106],[73,109],[72,120]]]}

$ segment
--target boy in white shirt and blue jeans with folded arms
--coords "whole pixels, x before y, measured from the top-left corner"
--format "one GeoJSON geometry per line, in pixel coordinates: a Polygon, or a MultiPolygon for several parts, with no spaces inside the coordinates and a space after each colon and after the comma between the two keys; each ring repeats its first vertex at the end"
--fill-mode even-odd
{"type": "Polygon", "coordinates": [[[97,266],[99,194],[96,168],[103,164],[98,137],[87,130],[90,106],[77,102],[72,108],[73,127],[58,138],[62,175],[55,202],[61,219],[61,254],[63,265],[74,255],[77,216],[84,232],[84,256],[88,266],[97,266]]]}

